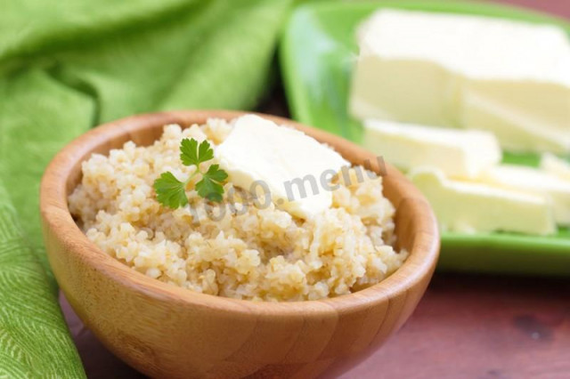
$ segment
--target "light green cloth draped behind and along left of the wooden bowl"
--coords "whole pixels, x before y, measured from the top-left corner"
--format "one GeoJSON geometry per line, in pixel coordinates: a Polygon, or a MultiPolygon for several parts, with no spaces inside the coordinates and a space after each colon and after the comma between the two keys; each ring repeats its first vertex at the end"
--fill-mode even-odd
{"type": "MultiPolygon", "coordinates": [[[[22,343],[21,353],[4,339],[20,327],[22,331],[37,330],[41,319],[50,320],[42,326],[52,328],[53,333],[61,335],[65,328],[55,303],[56,288],[45,261],[37,211],[45,165],[77,135],[118,117],[164,109],[254,107],[265,91],[274,44],[290,3],[3,2],[0,181],[5,190],[0,193],[4,204],[0,217],[19,222],[22,234],[16,233],[20,236],[16,250],[0,242],[0,298],[15,291],[6,279],[10,272],[26,267],[29,275],[37,272],[37,278],[45,280],[44,286],[28,288],[29,301],[20,304],[21,311],[6,313],[12,324],[0,325],[0,367],[13,362],[11,376],[29,376],[25,371],[28,366],[40,373],[45,368],[45,375],[40,376],[54,373],[48,370],[49,365],[35,366],[35,362],[53,359],[50,351],[61,352],[53,369],[69,376],[80,372],[69,338],[37,335],[35,343],[41,349],[33,351],[28,343],[22,343]],[[25,246],[21,238],[25,238],[25,246]],[[30,249],[45,272],[31,263],[30,249]]],[[[39,279],[34,280],[38,283],[39,279]]]]}

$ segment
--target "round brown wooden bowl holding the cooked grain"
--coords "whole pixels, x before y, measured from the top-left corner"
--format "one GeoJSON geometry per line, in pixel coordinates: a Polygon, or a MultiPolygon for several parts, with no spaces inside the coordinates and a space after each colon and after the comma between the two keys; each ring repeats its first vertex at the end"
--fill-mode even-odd
{"type": "MultiPolygon", "coordinates": [[[[129,140],[149,145],[166,124],[242,114],[198,110],[127,117],[72,141],[45,171],[40,207],[55,278],[85,325],[146,375],[308,378],[327,368],[342,372],[403,325],[434,271],[439,250],[434,214],[419,190],[390,165],[384,192],[396,207],[397,247],[410,252],[409,258],[375,286],[319,301],[250,302],[169,286],[102,253],[71,218],[68,194],[92,153],[106,154],[129,140]]],[[[351,142],[289,119],[261,116],[297,127],[354,164],[369,159],[379,170],[376,157],[351,142]]]]}

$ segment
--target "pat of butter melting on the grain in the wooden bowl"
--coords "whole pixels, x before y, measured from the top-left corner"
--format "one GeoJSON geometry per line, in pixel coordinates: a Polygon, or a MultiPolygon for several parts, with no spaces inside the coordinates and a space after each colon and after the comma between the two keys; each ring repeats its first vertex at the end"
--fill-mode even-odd
{"type": "MultiPolygon", "coordinates": [[[[303,219],[330,208],[330,179],[350,165],[305,133],[256,115],[237,118],[215,155],[233,184],[257,195],[261,192],[303,219]]],[[[262,206],[267,204],[263,198],[262,206]]]]}

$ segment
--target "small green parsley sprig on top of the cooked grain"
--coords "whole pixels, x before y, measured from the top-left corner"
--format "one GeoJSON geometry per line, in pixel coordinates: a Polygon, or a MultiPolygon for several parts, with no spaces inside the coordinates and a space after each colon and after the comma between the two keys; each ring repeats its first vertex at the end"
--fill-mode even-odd
{"type": "Polygon", "coordinates": [[[200,163],[208,162],[213,157],[214,150],[208,141],[202,141],[198,145],[198,141],[193,138],[191,140],[184,138],[180,142],[180,160],[183,165],[195,165],[196,171],[191,173],[186,181],[179,181],[170,172],[160,174],[153,186],[159,203],[172,209],[187,205],[186,187],[198,174],[202,175],[202,179],[196,183],[198,195],[217,203],[222,201],[224,195],[222,182],[227,179],[228,174],[220,168],[220,165],[210,165],[205,173],[199,169],[200,163]]]}

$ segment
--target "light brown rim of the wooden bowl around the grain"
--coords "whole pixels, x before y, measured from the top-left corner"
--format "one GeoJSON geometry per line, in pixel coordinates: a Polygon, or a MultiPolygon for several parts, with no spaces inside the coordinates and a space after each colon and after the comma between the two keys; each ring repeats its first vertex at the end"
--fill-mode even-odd
{"type": "MultiPolygon", "coordinates": [[[[124,139],[125,134],[140,133],[142,130],[152,130],[168,124],[181,124],[183,127],[199,123],[207,118],[224,118],[231,120],[244,114],[256,114],[273,120],[279,125],[289,125],[309,133],[317,140],[326,137],[329,141],[338,141],[346,144],[346,149],[360,149],[353,142],[346,141],[338,136],[323,132],[306,125],[298,124],[288,118],[275,117],[262,113],[248,111],[233,111],[220,109],[199,110],[173,110],[159,113],[140,114],[125,117],[103,125],[99,125],[71,141],[59,153],[45,169],[40,185],[40,213],[45,228],[52,231],[69,254],[77,254],[79,258],[89,262],[102,275],[120,282],[129,287],[135,293],[151,296],[180,304],[201,306],[208,309],[228,310],[243,316],[252,312],[265,317],[285,317],[302,311],[303,314],[312,315],[338,315],[338,312],[362,310],[370,308],[377,302],[383,302],[402,294],[416,286],[423,278],[430,277],[435,269],[439,254],[439,231],[436,217],[428,206],[427,200],[415,189],[409,181],[398,172],[392,165],[386,164],[387,175],[394,175],[395,180],[405,181],[405,199],[423,202],[424,215],[427,217],[415,217],[419,222],[418,243],[414,241],[414,248],[409,252],[408,258],[403,265],[395,270],[389,277],[381,280],[378,284],[369,286],[351,294],[343,294],[336,297],[320,300],[306,300],[296,302],[256,302],[251,300],[233,299],[213,294],[200,294],[187,288],[173,286],[132,270],[124,263],[105,254],[98,246],[95,246],[79,229],[73,220],[68,207],[67,181],[69,174],[77,162],[84,161],[94,149],[101,147],[111,139],[124,139]],[[197,121],[198,120],[198,121],[197,121]]],[[[366,152],[371,157],[371,153],[366,152]]],[[[341,154],[342,155],[342,154],[341,154]]],[[[419,212],[419,207],[414,209],[414,214],[419,212]]],[[[397,225],[396,225],[397,227],[397,225]]],[[[48,255],[50,255],[48,253],[48,255]]],[[[57,279],[57,278],[56,278],[57,279]]],[[[65,293],[64,284],[60,283],[65,293]]]]}

